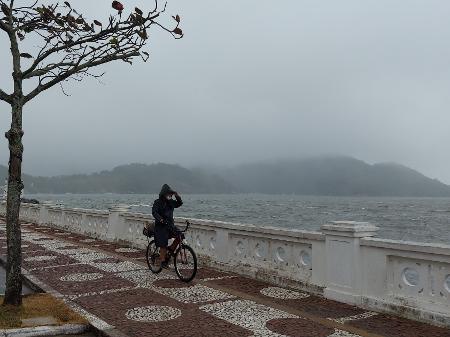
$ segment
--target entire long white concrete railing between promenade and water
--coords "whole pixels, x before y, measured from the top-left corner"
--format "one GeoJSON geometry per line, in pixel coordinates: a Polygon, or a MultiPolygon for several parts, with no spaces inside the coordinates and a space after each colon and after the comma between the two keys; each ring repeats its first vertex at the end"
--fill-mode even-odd
{"type": "MultiPolygon", "coordinates": [[[[4,205],[0,213],[4,213],[4,205]]],[[[23,204],[21,219],[144,248],[147,214],[23,204]]],[[[185,219],[177,218],[180,227],[185,219]]],[[[187,241],[203,263],[306,289],[371,310],[450,326],[450,246],[374,238],[368,223],[320,232],[190,219],[187,241]]]]}

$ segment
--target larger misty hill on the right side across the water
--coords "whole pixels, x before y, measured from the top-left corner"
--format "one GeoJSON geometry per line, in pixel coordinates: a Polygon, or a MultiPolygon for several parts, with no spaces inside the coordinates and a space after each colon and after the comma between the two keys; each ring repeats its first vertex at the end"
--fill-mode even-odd
{"type": "Polygon", "coordinates": [[[450,186],[408,167],[318,157],[242,165],[222,176],[246,192],[342,196],[450,196],[450,186]]]}

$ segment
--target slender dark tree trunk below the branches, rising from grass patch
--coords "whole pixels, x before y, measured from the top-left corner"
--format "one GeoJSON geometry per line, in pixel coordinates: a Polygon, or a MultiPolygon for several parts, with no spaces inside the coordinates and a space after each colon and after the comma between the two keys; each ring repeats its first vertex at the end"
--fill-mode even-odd
{"type": "Polygon", "coordinates": [[[6,263],[6,291],[3,304],[22,304],[22,247],[19,223],[22,183],[22,102],[15,100],[12,107],[11,129],[6,133],[9,142],[9,178],[6,204],[6,235],[8,258],[6,263]]]}

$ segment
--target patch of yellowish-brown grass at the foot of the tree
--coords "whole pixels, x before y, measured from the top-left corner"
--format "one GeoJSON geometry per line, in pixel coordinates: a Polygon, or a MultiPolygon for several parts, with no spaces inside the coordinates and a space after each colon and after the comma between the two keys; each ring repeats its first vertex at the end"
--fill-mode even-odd
{"type": "MultiPolygon", "coordinates": [[[[3,297],[0,296],[3,303],[3,297]]],[[[0,329],[20,328],[22,319],[54,317],[59,325],[87,324],[87,321],[72,311],[63,301],[48,294],[33,294],[23,297],[20,307],[0,305],[0,329]]]]}

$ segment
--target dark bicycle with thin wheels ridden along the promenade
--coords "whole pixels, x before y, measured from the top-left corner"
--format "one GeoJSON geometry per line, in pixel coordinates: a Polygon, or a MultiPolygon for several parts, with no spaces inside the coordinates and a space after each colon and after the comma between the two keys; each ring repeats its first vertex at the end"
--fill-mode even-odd
{"type": "MultiPolygon", "coordinates": [[[[197,274],[197,256],[194,250],[184,242],[184,233],[190,225],[189,221],[186,221],[186,228],[175,237],[175,240],[178,240],[177,246],[173,250],[167,248],[167,260],[170,261],[173,257],[175,273],[183,282],[192,281],[197,274]]],[[[158,274],[163,269],[161,265],[156,265],[156,261],[159,260],[159,247],[156,247],[155,240],[150,240],[154,235],[153,232],[146,231],[144,228],[144,235],[148,240],[146,253],[148,268],[154,274],[158,274]]]]}

